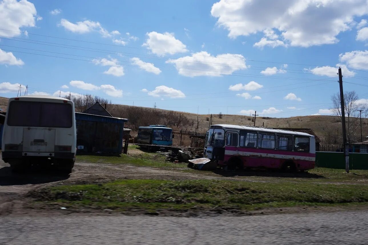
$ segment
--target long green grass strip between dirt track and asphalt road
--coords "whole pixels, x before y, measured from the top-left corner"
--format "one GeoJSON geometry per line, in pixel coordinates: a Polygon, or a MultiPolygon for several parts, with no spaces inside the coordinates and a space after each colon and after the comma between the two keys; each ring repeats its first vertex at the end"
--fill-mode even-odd
{"type": "Polygon", "coordinates": [[[220,180],[120,180],[63,185],[32,194],[38,201],[69,207],[131,210],[223,209],[336,205],[368,202],[367,185],[262,183],[220,180]]]}

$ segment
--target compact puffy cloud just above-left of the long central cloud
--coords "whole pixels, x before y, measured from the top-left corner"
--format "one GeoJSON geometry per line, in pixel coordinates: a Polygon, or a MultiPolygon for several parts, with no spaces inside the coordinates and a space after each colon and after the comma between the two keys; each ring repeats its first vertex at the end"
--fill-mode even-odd
{"type": "Polygon", "coordinates": [[[148,38],[142,46],[147,47],[148,50],[151,50],[152,53],[158,56],[188,51],[187,46],[176,39],[173,33],[149,32],[146,35],[148,38]]]}

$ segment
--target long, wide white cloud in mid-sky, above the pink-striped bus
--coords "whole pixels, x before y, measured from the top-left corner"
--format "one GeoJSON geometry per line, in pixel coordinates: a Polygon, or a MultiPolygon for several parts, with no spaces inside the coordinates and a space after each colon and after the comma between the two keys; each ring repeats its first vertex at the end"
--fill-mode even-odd
{"type": "Polygon", "coordinates": [[[234,71],[247,68],[245,58],[241,54],[211,54],[202,51],[177,58],[167,60],[166,63],[175,65],[180,75],[185,77],[209,76],[220,77],[223,74],[232,74],[234,71]],[[221,63],[222,65],[216,65],[221,63]]]}

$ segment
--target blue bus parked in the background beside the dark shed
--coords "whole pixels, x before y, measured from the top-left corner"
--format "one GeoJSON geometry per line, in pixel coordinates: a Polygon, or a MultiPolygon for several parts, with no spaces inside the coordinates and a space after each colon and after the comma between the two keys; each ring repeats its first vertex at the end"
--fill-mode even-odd
{"type": "Polygon", "coordinates": [[[148,150],[164,150],[165,146],[173,145],[173,129],[167,128],[164,125],[149,125],[149,127],[138,128],[138,144],[155,145],[141,146],[148,150]],[[156,146],[157,145],[157,146],[156,146]]]}

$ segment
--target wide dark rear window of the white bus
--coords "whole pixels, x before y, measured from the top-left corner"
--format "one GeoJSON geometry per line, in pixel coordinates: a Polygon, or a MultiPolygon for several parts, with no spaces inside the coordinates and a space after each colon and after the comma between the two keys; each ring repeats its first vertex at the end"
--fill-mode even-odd
{"type": "Polygon", "coordinates": [[[71,104],[12,101],[7,112],[8,125],[71,128],[72,113],[71,104]]]}

